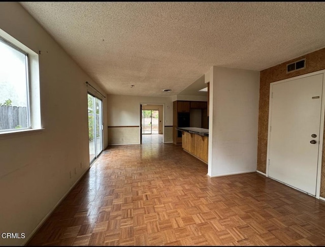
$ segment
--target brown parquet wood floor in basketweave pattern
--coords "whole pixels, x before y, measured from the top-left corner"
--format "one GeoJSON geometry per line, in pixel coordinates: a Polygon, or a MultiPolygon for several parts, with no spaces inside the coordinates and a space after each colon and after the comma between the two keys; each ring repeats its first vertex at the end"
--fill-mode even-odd
{"type": "Polygon", "coordinates": [[[27,245],[325,245],[325,202],[206,174],[174,144],[110,146],[27,245]]]}

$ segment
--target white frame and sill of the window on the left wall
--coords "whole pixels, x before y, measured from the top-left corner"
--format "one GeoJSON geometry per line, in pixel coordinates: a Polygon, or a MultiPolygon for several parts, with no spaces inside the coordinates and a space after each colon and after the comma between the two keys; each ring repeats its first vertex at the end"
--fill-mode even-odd
{"type": "Polygon", "coordinates": [[[27,55],[27,125],[29,128],[0,131],[0,140],[34,134],[43,130],[41,124],[39,54],[0,29],[0,38],[27,55]]]}

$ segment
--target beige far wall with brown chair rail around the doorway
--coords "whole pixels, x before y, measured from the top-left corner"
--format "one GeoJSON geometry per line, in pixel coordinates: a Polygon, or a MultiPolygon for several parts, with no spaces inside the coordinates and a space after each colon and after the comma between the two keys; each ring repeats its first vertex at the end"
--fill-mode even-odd
{"type": "MultiPolygon", "coordinates": [[[[164,123],[165,126],[173,125],[173,102],[171,97],[140,97],[140,96],[122,96],[108,95],[107,97],[107,112],[108,124],[107,127],[118,126],[140,126],[140,104],[155,105],[161,104],[164,108],[164,123]]],[[[110,129],[110,128],[108,128],[110,129]]],[[[165,128],[166,131],[166,128],[165,128]]],[[[110,134],[109,134],[110,135],[110,134]]],[[[138,137],[129,139],[126,130],[121,130],[119,140],[129,140],[129,143],[140,143],[140,129],[138,129],[138,137]]],[[[169,134],[164,133],[165,142],[169,140],[169,134]]],[[[115,140],[108,136],[109,140],[115,140]]],[[[123,142],[108,142],[109,145],[124,144],[123,142]]]]}

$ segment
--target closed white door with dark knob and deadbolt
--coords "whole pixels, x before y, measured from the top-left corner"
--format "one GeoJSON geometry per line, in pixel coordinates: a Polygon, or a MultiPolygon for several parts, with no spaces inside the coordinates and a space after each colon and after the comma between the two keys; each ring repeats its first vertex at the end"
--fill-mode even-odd
{"type": "Polygon", "coordinates": [[[268,176],[316,195],[322,74],[271,84],[268,176]]]}

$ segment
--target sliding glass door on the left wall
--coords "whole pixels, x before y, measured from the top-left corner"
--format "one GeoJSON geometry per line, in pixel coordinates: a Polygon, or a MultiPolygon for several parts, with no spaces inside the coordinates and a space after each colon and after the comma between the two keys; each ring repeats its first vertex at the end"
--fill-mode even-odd
{"type": "Polygon", "coordinates": [[[89,162],[92,163],[103,151],[103,103],[88,94],[89,162]]]}

